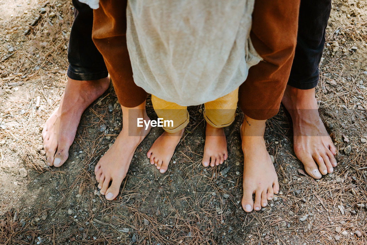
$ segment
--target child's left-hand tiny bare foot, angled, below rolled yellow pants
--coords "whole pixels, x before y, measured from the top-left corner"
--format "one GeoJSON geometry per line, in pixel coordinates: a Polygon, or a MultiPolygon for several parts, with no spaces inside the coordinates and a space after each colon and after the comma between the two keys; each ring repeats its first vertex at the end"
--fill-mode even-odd
{"type": "Polygon", "coordinates": [[[161,136],[156,139],[152,147],[148,150],[146,156],[150,159],[150,164],[154,164],[160,173],[164,173],[168,169],[168,164],[175,152],[176,146],[180,142],[183,135],[182,129],[177,133],[163,132],[161,136]]]}

